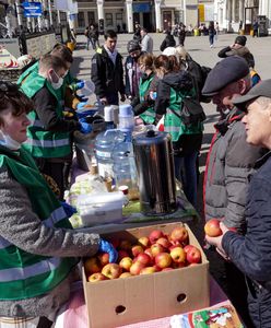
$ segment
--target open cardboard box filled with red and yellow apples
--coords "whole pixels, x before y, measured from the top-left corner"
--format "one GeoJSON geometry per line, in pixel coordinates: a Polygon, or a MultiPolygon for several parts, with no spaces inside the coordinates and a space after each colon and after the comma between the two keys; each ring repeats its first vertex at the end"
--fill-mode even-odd
{"type": "Polygon", "coordinates": [[[118,327],[209,306],[209,262],[182,223],[103,235],[118,250],[86,258],[83,282],[90,327],[118,327]]]}

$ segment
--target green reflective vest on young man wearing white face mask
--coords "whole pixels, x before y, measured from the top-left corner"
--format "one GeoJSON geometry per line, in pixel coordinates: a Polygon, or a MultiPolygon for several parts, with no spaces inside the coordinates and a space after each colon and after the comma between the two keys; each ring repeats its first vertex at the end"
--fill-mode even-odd
{"type": "MultiPolygon", "coordinates": [[[[21,90],[32,98],[42,87],[46,86],[56,97],[58,105],[57,115],[63,117],[61,89],[56,92],[47,79],[37,71],[32,71],[20,85],[21,90]]],[[[64,157],[71,153],[69,132],[48,131],[43,126],[35,110],[28,114],[31,126],[27,128],[27,140],[24,147],[34,157],[56,159],[64,157]]]]}

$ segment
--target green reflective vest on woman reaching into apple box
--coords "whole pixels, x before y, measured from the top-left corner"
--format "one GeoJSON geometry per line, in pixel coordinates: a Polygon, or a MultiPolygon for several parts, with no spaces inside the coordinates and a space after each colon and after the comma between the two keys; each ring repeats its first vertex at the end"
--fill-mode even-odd
{"type": "MultiPolygon", "coordinates": [[[[27,191],[33,212],[48,227],[71,229],[63,208],[38,172],[27,151],[0,148],[0,167],[7,167],[27,191]]],[[[76,265],[75,258],[24,251],[0,236],[0,300],[24,300],[48,293],[76,265]]]]}

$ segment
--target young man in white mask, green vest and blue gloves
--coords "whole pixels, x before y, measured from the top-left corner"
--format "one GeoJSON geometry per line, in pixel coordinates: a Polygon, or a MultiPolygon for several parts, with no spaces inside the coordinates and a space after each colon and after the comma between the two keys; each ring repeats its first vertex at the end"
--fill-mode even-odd
{"type": "Polygon", "coordinates": [[[34,110],[28,114],[31,126],[24,143],[36,160],[39,169],[51,176],[63,198],[64,162],[71,156],[70,136],[80,130],[91,132],[91,125],[64,119],[63,102],[59,89],[67,74],[66,63],[58,57],[45,55],[39,60],[38,72],[31,72],[20,84],[21,90],[34,101],[34,110]]]}

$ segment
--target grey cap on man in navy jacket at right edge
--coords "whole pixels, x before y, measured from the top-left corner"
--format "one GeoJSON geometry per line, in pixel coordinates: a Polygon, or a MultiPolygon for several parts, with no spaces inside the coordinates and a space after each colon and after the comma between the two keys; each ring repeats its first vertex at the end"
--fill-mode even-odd
{"type": "Polygon", "coordinates": [[[233,103],[241,110],[246,110],[247,103],[260,96],[271,98],[271,79],[259,82],[247,94],[236,97],[233,103]]]}

